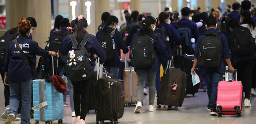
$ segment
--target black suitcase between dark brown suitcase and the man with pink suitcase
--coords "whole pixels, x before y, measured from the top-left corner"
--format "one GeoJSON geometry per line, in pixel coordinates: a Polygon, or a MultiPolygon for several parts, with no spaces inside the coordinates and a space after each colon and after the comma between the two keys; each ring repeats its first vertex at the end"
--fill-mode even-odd
{"type": "MultiPolygon", "coordinates": [[[[192,83],[191,68],[194,64],[194,56],[187,55],[187,54],[184,54],[182,56],[185,58],[185,65],[184,65],[183,72],[187,74],[186,93],[192,94],[194,96],[195,93],[197,93],[200,88],[200,83],[197,83],[195,86],[192,83]]],[[[196,70],[196,73],[200,74],[198,69],[196,70]]]]}

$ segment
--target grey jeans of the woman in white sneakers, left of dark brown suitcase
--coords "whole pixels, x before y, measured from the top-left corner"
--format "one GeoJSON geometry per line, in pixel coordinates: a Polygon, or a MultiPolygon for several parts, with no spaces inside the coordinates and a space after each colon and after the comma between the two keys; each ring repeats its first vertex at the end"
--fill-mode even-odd
{"type": "Polygon", "coordinates": [[[153,70],[136,70],[138,84],[137,84],[137,102],[143,102],[143,90],[146,83],[146,77],[148,77],[148,87],[149,87],[149,105],[154,105],[155,100],[155,75],[156,72],[153,70]]]}

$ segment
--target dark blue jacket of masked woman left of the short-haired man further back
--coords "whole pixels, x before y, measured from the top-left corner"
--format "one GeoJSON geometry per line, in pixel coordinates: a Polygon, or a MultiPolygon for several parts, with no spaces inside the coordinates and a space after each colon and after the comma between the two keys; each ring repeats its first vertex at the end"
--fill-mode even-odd
{"type": "MultiPolygon", "coordinates": [[[[164,22],[160,22],[159,25],[164,26],[164,22]]],[[[171,26],[171,25],[165,25],[165,30],[166,30],[166,36],[169,36],[170,39],[170,44],[173,45],[174,43],[178,46],[181,45],[181,37],[178,31],[171,26]]]]}

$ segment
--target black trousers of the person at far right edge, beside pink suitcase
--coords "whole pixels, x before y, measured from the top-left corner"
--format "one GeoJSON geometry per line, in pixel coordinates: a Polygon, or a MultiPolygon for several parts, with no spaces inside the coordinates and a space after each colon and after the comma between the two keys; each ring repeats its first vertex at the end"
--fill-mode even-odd
{"type": "Polygon", "coordinates": [[[235,69],[237,69],[237,80],[241,81],[243,84],[245,98],[250,98],[251,78],[252,78],[254,64],[255,64],[255,60],[249,59],[249,60],[237,62],[234,66],[235,69]]]}

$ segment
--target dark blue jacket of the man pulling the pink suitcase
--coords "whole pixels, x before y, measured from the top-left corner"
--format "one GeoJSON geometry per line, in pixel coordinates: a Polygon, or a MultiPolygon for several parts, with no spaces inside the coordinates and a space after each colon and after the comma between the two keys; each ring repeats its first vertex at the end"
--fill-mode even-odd
{"type": "MultiPolygon", "coordinates": [[[[217,32],[216,29],[210,28],[207,32],[217,32]]],[[[200,49],[200,43],[201,40],[203,39],[205,35],[201,35],[199,36],[197,43],[196,43],[196,48],[195,48],[195,58],[198,59],[198,54],[199,54],[199,49],[200,49]]],[[[225,59],[231,58],[230,52],[229,52],[229,43],[227,40],[227,37],[223,34],[220,33],[219,35],[220,40],[222,41],[222,51],[223,51],[223,58],[222,58],[222,62],[220,63],[219,67],[215,67],[216,71],[219,73],[224,73],[226,70],[226,62],[225,59]]],[[[207,67],[201,67],[199,66],[200,72],[202,73],[202,75],[205,75],[205,73],[208,71],[209,68],[207,67]]]]}

